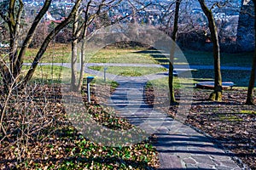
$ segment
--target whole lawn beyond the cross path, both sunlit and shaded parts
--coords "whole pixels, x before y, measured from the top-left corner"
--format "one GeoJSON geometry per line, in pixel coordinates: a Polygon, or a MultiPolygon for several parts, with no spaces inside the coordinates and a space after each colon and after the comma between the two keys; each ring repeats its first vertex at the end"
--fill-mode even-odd
{"type": "MultiPolygon", "coordinates": [[[[38,49],[29,48],[26,51],[25,62],[32,62],[38,49]]],[[[71,45],[55,44],[45,52],[42,63],[67,63],[71,58],[71,45]]],[[[221,54],[221,65],[248,66],[252,65],[253,53],[221,54]]],[[[168,59],[156,50],[147,48],[102,48],[90,59],[90,63],[136,63],[136,64],[162,64],[167,65],[168,59]]],[[[176,54],[175,63],[189,65],[212,65],[212,53],[186,50],[183,54],[176,54]],[[185,58],[184,58],[185,56],[185,58]]]]}

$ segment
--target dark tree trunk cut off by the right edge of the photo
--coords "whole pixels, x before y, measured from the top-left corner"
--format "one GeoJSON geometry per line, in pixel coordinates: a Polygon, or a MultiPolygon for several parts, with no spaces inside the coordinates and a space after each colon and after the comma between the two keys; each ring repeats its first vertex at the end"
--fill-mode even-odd
{"type": "MultiPolygon", "coordinates": [[[[254,5],[254,14],[256,14],[256,0],[253,0],[254,5]]],[[[256,20],[254,18],[254,35],[255,35],[255,42],[256,42],[256,20]]],[[[253,55],[253,65],[252,65],[252,71],[251,71],[251,77],[250,82],[247,89],[247,105],[253,105],[253,88],[255,85],[255,75],[256,75],[256,45],[254,49],[254,55],[253,55]]]]}

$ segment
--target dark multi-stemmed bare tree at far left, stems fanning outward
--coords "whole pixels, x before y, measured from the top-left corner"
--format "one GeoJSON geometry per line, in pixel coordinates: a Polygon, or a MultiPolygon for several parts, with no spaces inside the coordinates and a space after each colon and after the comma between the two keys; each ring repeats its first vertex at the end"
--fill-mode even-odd
{"type": "Polygon", "coordinates": [[[26,76],[21,78],[21,67],[23,65],[23,59],[26,54],[26,49],[29,44],[32,42],[32,37],[34,32],[36,31],[38,24],[42,20],[44,14],[49,9],[50,3],[52,0],[45,0],[43,8],[40,9],[35,19],[32,22],[32,26],[27,31],[25,39],[20,41],[20,29],[22,27],[22,14],[24,4],[22,0],[10,0],[8,4],[5,4],[5,10],[0,11],[0,16],[9,26],[9,65],[7,65],[5,61],[1,60],[1,65],[4,67],[1,69],[3,76],[3,84],[5,86],[5,90],[9,91],[10,84],[13,82],[19,82],[20,87],[26,86],[27,82],[32,78],[33,73],[35,72],[40,59],[42,58],[46,48],[49,45],[49,42],[55,37],[62,28],[67,26],[73,19],[73,15],[79,9],[79,5],[82,0],[77,0],[73,6],[73,9],[68,14],[67,18],[63,20],[55,29],[49,32],[49,35],[44,39],[43,44],[38,50],[36,57],[33,59],[31,68],[26,72],[26,76]],[[19,42],[22,42],[19,47],[19,42]],[[17,77],[20,77],[18,79],[17,77]]]}

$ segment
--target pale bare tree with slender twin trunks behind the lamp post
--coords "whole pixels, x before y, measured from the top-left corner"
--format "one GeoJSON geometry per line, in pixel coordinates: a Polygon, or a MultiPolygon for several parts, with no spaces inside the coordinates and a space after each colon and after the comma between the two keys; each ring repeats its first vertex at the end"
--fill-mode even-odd
{"type": "MultiPolygon", "coordinates": [[[[87,29],[90,24],[96,20],[101,14],[107,14],[110,8],[113,8],[119,4],[121,0],[116,1],[106,1],[102,0],[98,3],[93,3],[93,1],[88,1],[85,4],[85,8],[82,11],[77,11],[73,15],[73,42],[72,42],[72,77],[71,77],[71,88],[73,91],[79,91],[83,85],[83,76],[84,76],[84,48],[86,45],[86,35],[87,29]],[[82,14],[81,14],[82,13],[82,14]],[[80,24],[79,24],[80,23],[80,24]],[[80,48],[80,70],[79,77],[76,76],[76,63],[78,61],[78,43],[81,42],[80,48]]],[[[104,26],[104,25],[102,25],[104,26]]]]}

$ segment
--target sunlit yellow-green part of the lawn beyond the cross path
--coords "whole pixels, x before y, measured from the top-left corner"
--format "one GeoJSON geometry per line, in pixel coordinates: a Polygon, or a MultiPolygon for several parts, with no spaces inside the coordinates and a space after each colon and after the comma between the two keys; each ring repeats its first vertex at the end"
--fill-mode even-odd
{"type": "MultiPolygon", "coordinates": [[[[85,59],[90,63],[137,63],[137,64],[157,64],[150,54],[139,54],[144,48],[103,48],[94,54],[90,59],[85,59]]],[[[26,51],[25,62],[32,62],[38,49],[29,48],[26,51]]],[[[71,59],[71,45],[55,44],[49,47],[41,63],[68,63],[71,59]]]]}

